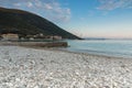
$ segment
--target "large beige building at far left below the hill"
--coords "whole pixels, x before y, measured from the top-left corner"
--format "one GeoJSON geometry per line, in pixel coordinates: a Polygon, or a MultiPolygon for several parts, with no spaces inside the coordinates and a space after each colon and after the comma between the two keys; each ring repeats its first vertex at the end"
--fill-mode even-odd
{"type": "Polygon", "coordinates": [[[13,33],[2,34],[1,36],[4,41],[18,41],[19,40],[19,35],[13,34],[13,33]]]}

